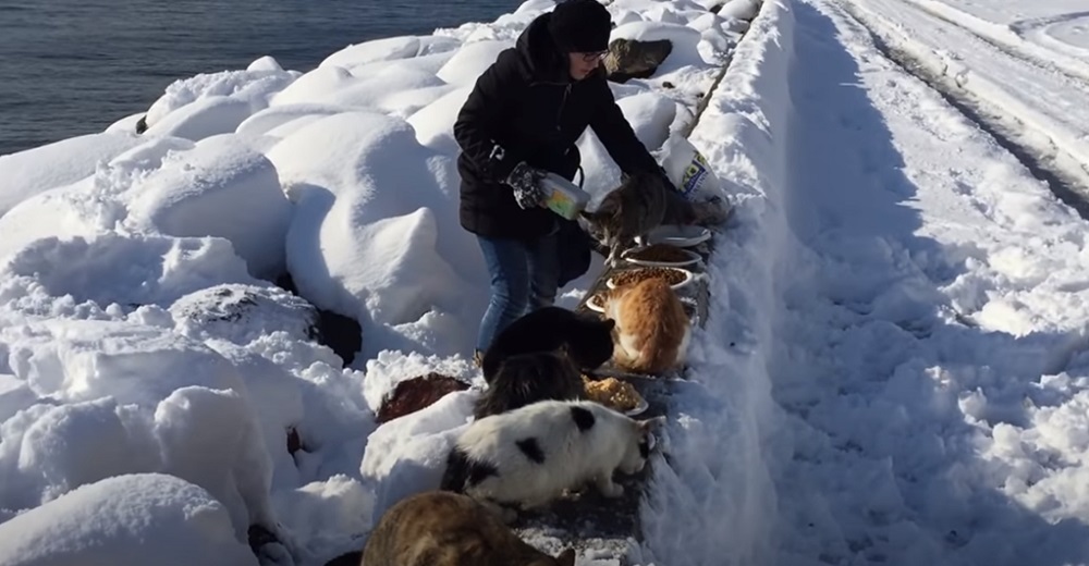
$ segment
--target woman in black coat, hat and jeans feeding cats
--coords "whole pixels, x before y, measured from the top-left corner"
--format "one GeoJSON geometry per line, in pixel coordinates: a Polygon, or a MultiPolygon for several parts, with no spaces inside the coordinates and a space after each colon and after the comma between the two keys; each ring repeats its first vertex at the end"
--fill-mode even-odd
{"type": "Polygon", "coordinates": [[[491,274],[478,359],[507,324],[551,305],[561,284],[589,268],[585,234],[543,208],[537,185],[548,171],[574,179],[575,142],[586,127],[625,173],[661,171],[605,82],[611,28],[596,0],[558,4],[477,78],[457,115],[461,223],[477,236],[491,274]]]}

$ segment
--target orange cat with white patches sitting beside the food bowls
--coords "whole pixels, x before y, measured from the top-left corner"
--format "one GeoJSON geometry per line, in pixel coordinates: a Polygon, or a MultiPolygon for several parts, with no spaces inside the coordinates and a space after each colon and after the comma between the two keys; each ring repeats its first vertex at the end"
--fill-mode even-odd
{"type": "Polygon", "coordinates": [[[613,364],[640,373],[662,373],[684,361],[690,322],[670,284],[646,279],[611,290],[604,316],[616,321],[613,364]]]}

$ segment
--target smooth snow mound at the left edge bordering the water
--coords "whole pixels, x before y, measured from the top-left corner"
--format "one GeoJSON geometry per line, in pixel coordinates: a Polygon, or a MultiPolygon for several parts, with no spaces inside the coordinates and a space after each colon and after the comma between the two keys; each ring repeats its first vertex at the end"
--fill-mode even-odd
{"type": "Polygon", "coordinates": [[[93,174],[99,162],[143,142],[133,133],[88,134],[0,156],[0,218],[27,198],[93,174]]]}

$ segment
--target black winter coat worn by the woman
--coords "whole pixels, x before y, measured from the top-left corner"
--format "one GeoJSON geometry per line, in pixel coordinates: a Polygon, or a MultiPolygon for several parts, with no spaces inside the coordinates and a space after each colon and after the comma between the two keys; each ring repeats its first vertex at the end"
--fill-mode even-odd
{"type": "Polygon", "coordinates": [[[587,126],[625,173],[660,171],[616,106],[603,69],[571,78],[566,56],[548,30],[551,15],[534,20],[515,47],[500,52],[454,123],[462,148],[461,223],[485,237],[530,239],[551,232],[562,219],[546,208],[518,208],[503,180],[521,161],[574,180],[575,142],[587,126]]]}

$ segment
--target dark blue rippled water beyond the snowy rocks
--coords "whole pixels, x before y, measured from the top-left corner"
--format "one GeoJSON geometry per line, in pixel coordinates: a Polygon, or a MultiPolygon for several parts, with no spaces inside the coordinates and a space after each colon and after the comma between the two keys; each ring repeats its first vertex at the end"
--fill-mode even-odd
{"type": "Polygon", "coordinates": [[[0,155],[100,132],[175,78],[490,22],[521,0],[0,0],[0,155]]]}

